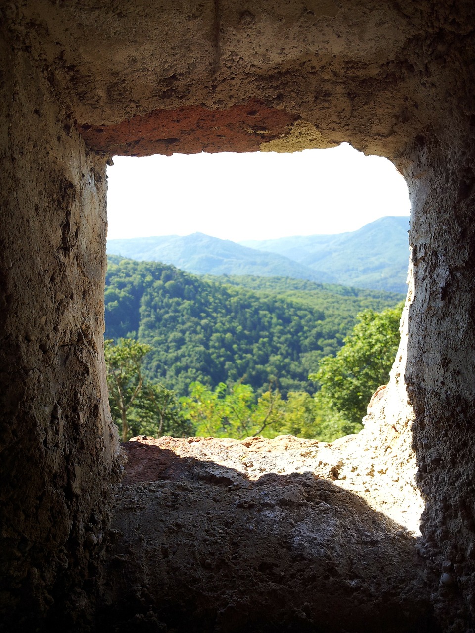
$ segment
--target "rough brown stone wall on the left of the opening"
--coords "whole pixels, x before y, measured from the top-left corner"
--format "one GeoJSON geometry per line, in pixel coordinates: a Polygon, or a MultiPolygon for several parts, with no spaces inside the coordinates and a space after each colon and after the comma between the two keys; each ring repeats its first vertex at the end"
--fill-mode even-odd
{"type": "Polygon", "coordinates": [[[103,358],[106,164],[46,69],[13,34],[2,42],[1,621],[80,627],[118,477],[103,358]]]}

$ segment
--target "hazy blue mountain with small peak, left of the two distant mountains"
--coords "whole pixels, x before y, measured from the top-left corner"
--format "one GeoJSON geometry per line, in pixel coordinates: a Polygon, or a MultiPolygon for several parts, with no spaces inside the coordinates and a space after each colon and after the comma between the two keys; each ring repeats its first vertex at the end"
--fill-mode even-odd
{"type": "Polygon", "coordinates": [[[336,282],[329,272],[302,265],[276,253],[264,253],[236,242],[193,233],[180,237],[134,237],[107,242],[109,254],[137,261],[162,261],[186,272],[203,275],[260,275],[336,282]]]}

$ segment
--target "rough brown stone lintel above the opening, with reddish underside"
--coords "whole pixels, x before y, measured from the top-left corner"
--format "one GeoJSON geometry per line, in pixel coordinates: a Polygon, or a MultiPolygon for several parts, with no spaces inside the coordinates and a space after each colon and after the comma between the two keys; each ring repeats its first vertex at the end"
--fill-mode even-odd
{"type": "MultiPolygon", "coordinates": [[[[236,106],[257,99],[269,108],[260,126],[271,135],[281,132],[272,109],[303,123],[282,134],[287,149],[295,136],[296,149],[352,141],[395,156],[424,127],[433,75],[440,74],[449,49],[457,58],[470,10],[460,4],[459,15],[449,18],[431,3],[362,0],[163,2],[157,10],[142,0],[105,11],[92,0],[60,6],[36,1],[27,3],[18,23],[81,126],[124,130],[130,121],[146,128],[161,110],[181,115],[194,106],[220,111],[219,125],[234,125],[236,133],[236,106]]],[[[259,139],[251,115],[240,123],[241,135],[251,137],[241,139],[243,151],[259,139]]],[[[124,135],[122,144],[134,142],[137,154],[167,153],[177,149],[164,148],[163,141],[174,138],[180,151],[194,152],[203,135],[202,149],[211,137],[215,151],[236,147],[215,127],[205,116],[193,130],[184,125],[164,137],[124,135]]],[[[269,139],[262,137],[265,146],[269,139]]],[[[95,142],[91,134],[91,147],[104,147],[95,142]]],[[[115,147],[111,143],[110,151],[115,147]]]]}

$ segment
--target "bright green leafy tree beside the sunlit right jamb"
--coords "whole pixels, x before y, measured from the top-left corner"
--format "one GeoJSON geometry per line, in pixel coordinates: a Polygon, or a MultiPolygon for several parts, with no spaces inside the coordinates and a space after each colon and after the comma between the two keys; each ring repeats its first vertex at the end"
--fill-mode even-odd
{"type": "Polygon", "coordinates": [[[322,425],[342,435],[361,428],[373,392],[388,382],[400,340],[402,304],[381,313],[365,310],[336,356],[320,360],[310,375],[320,391],[315,396],[324,413],[322,425]]]}

